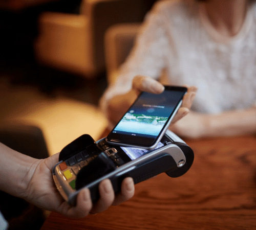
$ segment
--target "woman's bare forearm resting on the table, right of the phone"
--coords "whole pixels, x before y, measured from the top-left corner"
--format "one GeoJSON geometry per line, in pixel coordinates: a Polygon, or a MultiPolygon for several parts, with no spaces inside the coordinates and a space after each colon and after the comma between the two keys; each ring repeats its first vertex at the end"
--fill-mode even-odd
{"type": "Polygon", "coordinates": [[[253,106],[218,114],[189,112],[185,118],[170,126],[170,130],[191,139],[255,134],[256,108],[253,106]]]}

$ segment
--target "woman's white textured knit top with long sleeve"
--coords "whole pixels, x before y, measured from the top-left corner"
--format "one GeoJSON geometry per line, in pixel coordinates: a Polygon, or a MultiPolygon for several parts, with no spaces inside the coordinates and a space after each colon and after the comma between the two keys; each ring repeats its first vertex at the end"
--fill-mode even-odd
{"type": "MultiPolygon", "coordinates": [[[[196,85],[193,110],[219,113],[252,106],[256,99],[256,10],[249,7],[239,34],[223,37],[196,3],[160,1],[147,14],[135,47],[101,105],[131,89],[136,75],[169,84],[196,85]]],[[[104,106],[103,106],[104,107],[104,106]]]]}

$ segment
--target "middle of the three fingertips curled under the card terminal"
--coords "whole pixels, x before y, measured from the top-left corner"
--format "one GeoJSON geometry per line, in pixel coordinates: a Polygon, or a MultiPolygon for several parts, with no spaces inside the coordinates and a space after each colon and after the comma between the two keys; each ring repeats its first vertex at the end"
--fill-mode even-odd
{"type": "Polygon", "coordinates": [[[115,193],[110,179],[105,179],[99,184],[100,198],[93,206],[90,214],[101,213],[109,208],[115,199],[115,193]]]}

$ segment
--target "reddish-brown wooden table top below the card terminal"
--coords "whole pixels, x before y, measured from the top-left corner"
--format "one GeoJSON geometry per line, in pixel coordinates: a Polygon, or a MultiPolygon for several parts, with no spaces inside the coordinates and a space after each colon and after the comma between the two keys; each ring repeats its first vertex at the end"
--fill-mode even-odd
{"type": "Polygon", "coordinates": [[[83,219],[51,213],[47,229],[256,229],[256,137],[187,140],[195,152],[179,178],[137,184],[134,197],[83,219]]]}

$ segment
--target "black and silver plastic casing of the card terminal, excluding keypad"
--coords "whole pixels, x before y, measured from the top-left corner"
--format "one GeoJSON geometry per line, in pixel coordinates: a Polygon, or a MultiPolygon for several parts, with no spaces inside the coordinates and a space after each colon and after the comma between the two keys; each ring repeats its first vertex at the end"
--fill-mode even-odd
{"type": "MultiPolygon", "coordinates": [[[[65,197],[62,196],[70,204],[76,205],[76,196],[80,189],[84,187],[90,189],[92,200],[97,201],[99,198],[99,183],[106,178],[111,180],[115,193],[118,193],[125,177],[132,177],[135,184],[162,172],[166,172],[170,177],[179,177],[186,173],[193,164],[194,152],[184,141],[169,130],[166,131],[163,138],[165,140],[167,138],[170,141],[169,144],[117,166],[108,156],[108,151],[102,149],[100,145],[105,142],[104,139],[95,143],[90,135],[82,135],[62,149],[58,164],[68,160],[83,149],[90,149],[91,154],[97,155],[97,157],[79,171],[76,177],[76,190],[72,192],[67,191],[63,186],[59,186],[59,178],[55,170],[57,164],[53,169],[53,178],[57,188],[61,194],[66,193],[67,197],[66,195],[65,197]]],[[[115,148],[115,146],[108,143],[106,145],[115,148]]]]}

